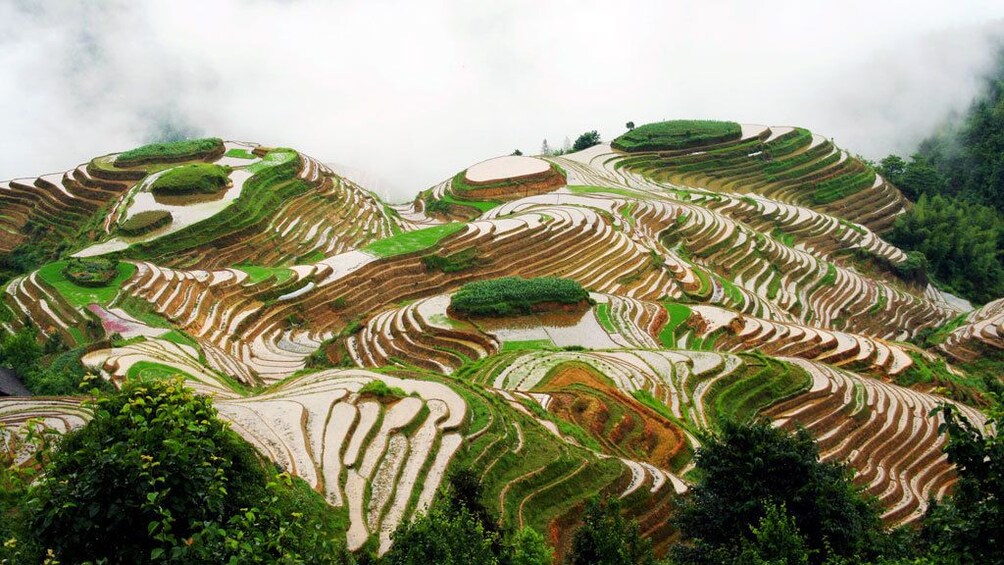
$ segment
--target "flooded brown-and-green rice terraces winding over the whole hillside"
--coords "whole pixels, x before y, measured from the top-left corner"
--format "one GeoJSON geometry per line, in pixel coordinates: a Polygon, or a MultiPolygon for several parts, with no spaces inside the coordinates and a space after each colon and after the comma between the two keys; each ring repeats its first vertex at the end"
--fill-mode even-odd
{"type": "MultiPolygon", "coordinates": [[[[597,493],[665,550],[703,431],[757,414],[898,525],[956,481],[933,408],[984,426],[968,371],[1004,348],[1000,301],[898,268],[905,202],[796,127],[650,124],[397,206],[293,150],[151,146],[0,184],[0,327],[114,384],[183,375],[347,510],[353,550],[386,552],[460,468],[559,551],[597,493]]],[[[64,432],[80,400],[0,398],[0,423],[64,432]]]]}

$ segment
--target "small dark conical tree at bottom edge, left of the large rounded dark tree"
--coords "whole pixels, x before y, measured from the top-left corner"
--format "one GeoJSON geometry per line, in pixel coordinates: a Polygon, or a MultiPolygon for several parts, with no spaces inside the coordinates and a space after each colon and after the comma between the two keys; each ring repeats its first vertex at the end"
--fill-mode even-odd
{"type": "Polygon", "coordinates": [[[565,563],[623,565],[655,563],[652,544],[643,539],[638,522],[620,515],[618,499],[593,498],[585,504],[582,525],[572,537],[565,563]]]}

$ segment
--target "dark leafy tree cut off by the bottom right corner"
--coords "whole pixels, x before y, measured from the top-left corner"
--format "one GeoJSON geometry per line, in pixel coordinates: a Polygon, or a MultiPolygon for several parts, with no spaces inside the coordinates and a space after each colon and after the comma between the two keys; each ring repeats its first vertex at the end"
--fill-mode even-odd
{"type": "Polygon", "coordinates": [[[953,404],[941,412],[948,435],[945,453],[959,474],[953,495],[929,509],[921,535],[924,554],[940,563],[998,563],[1004,555],[1004,426],[1002,385],[991,381],[988,432],[966,419],[953,404]]]}

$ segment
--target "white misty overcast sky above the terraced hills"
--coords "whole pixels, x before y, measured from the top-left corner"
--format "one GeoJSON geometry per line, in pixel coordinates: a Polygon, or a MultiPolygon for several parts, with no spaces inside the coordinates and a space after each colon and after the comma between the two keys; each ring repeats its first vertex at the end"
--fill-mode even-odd
{"type": "Polygon", "coordinates": [[[979,90],[1004,2],[0,0],[0,179],[165,127],[289,146],[394,201],[663,118],[909,153],[979,90]]]}

